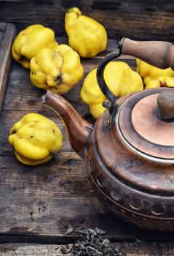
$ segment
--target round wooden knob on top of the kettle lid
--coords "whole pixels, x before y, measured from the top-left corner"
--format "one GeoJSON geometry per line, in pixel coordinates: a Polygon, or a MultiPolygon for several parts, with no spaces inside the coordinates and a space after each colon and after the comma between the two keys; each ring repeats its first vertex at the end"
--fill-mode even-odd
{"type": "Polygon", "coordinates": [[[174,90],[163,91],[157,98],[160,118],[174,118],[174,90]]]}

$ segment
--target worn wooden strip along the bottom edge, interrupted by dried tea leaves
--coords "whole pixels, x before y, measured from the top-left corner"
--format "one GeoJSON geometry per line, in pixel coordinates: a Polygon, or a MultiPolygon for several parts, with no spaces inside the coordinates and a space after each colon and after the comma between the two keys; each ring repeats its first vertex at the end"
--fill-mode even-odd
{"type": "MultiPolygon", "coordinates": [[[[119,251],[127,256],[173,256],[174,244],[167,243],[116,243],[119,251]]],[[[71,245],[69,245],[71,246],[71,245]]],[[[60,245],[2,244],[1,256],[63,256],[60,245]]],[[[118,256],[122,256],[122,254],[118,256]]],[[[73,256],[72,253],[66,256],[73,256]]]]}

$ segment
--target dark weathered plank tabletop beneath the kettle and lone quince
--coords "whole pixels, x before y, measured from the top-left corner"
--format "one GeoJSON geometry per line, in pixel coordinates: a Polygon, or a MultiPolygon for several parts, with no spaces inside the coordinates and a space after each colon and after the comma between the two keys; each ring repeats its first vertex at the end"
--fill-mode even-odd
{"type": "MultiPolygon", "coordinates": [[[[97,67],[101,56],[114,49],[114,41],[95,59],[84,59],[85,74],[97,67]]],[[[123,57],[122,57],[123,58],[123,57]]],[[[125,59],[135,68],[135,60],[125,59]]],[[[79,99],[79,86],[66,94],[76,110],[89,118],[79,99]]],[[[64,236],[68,225],[98,226],[112,241],[173,241],[173,233],[140,230],[118,219],[100,201],[88,181],[84,162],[72,150],[62,121],[40,103],[44,91],[31,85],[29,72],[12,62],[7,94],[0,118],[0,242],[68,243],[76,236],[64,236]],[[64,147],[58,159],[28,167],[17,162],[8,143],[12,125],[26,113],[38,112],[55,121],[63,131],[64,147]]]]}

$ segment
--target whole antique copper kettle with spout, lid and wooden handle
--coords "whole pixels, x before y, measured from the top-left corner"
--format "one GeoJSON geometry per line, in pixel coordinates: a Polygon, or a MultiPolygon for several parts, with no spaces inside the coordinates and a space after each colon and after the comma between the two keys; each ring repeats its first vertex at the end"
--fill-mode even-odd
{"type": "Polygon", "coordinates": [[[174,69],[173,49],[170,42],[123,38],[98,66],[98,84],[108,102],[94,126],[62,96],[47,91],[41,98],[63,119],[71,146],[84,158],[102,200],[117,216],[150,230],[174,230],[174,89],[117,99],[103,71],[121,54],[174,69]]]}

